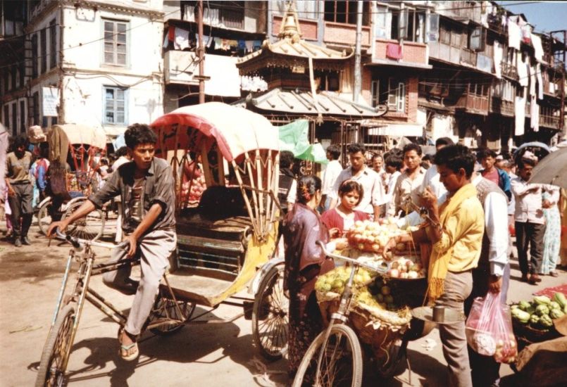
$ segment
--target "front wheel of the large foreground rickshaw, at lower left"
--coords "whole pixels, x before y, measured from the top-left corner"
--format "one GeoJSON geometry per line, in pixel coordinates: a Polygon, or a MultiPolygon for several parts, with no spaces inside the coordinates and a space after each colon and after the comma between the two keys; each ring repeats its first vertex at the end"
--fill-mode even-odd
{"type": "Polygon", "coordinates": [[[59,312],[55,325],[47,336],[42,360],[37,369],[35,387],[63,386],[65,384],[67,360],[73,346],[71,336],[73,336],[75,313],[75,305],[73,304],[66,305],[59,312]]]}

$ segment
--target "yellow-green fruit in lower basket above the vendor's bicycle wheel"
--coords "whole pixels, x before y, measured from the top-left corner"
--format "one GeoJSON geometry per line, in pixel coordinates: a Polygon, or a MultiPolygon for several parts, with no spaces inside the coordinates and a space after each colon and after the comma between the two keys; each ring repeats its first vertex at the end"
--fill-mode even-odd
{"type": "MultiPolygon", "coordinates": [[[[315,284],[317,298],[321,302],[338,298],[344,291],[344,285],[349,280],[351,267],[336,267],[320,276],[315,284]]],[[[366,310],[382,324],[404,326],[409,323],[411,313],[392,293],[392,286],[387,279],[377,276],[366,269],[359,268],[354,275],[352,286],[354,294],[352,307],[366,310]]]]}

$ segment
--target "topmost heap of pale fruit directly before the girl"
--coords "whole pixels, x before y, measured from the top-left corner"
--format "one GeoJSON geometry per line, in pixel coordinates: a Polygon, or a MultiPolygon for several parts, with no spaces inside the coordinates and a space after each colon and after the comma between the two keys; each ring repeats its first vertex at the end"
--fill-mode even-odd
{"type": "MultiPolygon", "coordinates": [[[[354,227],[347,231],[347,239],[354,248],[379,253],[392,237],[407,234],[407,232],[397,228],[393,217],[385,220],[383,224],[370,222],[370,220],[357,220],[354,222],[354,227]]],[[[412,246],[407,246],[406,243],[398,243],[395,251],[405,253],[412,249],[412,246]]]]}

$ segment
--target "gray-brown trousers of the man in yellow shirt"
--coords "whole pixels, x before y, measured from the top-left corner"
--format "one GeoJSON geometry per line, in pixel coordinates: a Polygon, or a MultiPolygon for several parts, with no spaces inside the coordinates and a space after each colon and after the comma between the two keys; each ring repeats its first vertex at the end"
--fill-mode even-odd
{"type": "MultiPolygon", "coordinates": [[[[464,302],[473,290],[471,271],[447,272],[444,293],[435,301],[459,312],[464,312],[464,302]]],[[[449,386],[472,387],[471,367],[468,363],[468,350],[465,322],[439,324],[439,336],[443,345],[443,355],[449,367],[449,386]]]]}

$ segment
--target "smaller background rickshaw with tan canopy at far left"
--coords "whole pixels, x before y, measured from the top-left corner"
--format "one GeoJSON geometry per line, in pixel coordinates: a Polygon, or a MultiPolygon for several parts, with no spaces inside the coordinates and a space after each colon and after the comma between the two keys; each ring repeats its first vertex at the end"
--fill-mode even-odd
{"type": "MultiPolygon", "coordinates": [[[[62,217],[80,207],[91,194],[96,174],[97,158],[104,156],[106,135],[101,130],[77,124],[54,125],[47,134],[49,160],[68,165],[66,189],[70,201],[61,205],[62,217]]],[[[51,208],[53,198],[47,196],[37,205],[37,225],[46,234],[51,215],[59,209],[51,208]]],[[[104,232],[106,217],[102,210],[94,210],[68,229],[68,234],[82,239],[99,239],[104,232]]]]}

